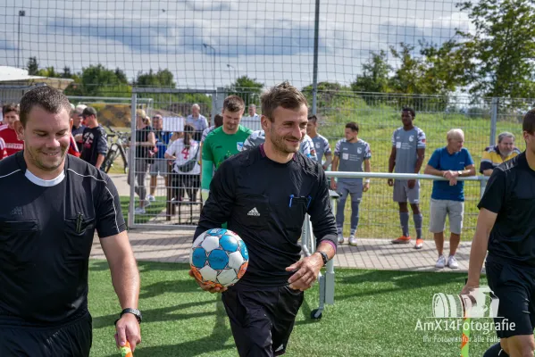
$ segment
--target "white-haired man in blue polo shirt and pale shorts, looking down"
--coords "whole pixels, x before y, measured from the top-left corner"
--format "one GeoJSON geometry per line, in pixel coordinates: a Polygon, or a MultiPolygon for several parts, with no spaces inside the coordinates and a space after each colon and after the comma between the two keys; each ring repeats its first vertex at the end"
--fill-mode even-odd
{"type": "Polygon", "coordinates": [[[458,177],[474,176],[475,166],[472,156],[464,147],[464,132],[451,129],[447,132],[447,146],[441,147],[431,155],[424,173],[443,177],[447,180],[433,181],[429,230],[433,233],[439,260],[437,268],[448,266],[457,269],[456,250],[461,241],[464,216],[464,181],[458,177]],[[444,228],[446,216],[449,217],[449,258],[442,254],[444,248],[444,228]]]}

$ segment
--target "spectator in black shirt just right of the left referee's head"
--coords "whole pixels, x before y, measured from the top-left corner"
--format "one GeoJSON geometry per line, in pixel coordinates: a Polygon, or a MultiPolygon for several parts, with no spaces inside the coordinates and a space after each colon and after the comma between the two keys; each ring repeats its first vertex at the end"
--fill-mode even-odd
{"type": "Polygon", "coordinates": [[[106,131],[98,123],[96,118],[95,108],[88,106],[82,112],[82,117],[85,120],[87,127],[84,129],[82,135],[82,152],[80,159],[90,163],[96,167],[96,170],[101,170],[104,158],[108,153],[108,138],[106,131]]]}

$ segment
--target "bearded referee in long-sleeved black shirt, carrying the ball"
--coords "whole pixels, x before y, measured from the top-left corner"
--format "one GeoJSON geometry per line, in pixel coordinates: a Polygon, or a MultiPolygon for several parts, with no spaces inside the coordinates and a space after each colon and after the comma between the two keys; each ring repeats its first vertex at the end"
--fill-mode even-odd
{"type": "Polygon", "coordinates": [[[298,153],[308,122],[305,96],[285,82],[264,93],[261,101],[265,143],[222,162],[194,237],[228,222],[247,245],[247,272],[235,286],[220,290],[199,282],[204,290],[222,293],[242,357],[286,352],[303,292],[337,246],[321,163],[298,153]],[[316,253],[300,259],[297,240],[305,213],[318,243],[316,253]]]}

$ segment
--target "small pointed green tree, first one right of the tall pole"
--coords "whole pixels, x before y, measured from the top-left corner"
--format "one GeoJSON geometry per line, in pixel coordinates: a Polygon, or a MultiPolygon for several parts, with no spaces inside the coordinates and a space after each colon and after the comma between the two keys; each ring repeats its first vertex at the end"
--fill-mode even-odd
{"type": "Polygon", "coordinates": [[[392,67],[387,62],[387,53],[382,50],[379,54],[372,52],[372,58],[363,64],[363,73],[351,83],[351,89],[355,92],[388,93],[390,71],[392,67]]]}

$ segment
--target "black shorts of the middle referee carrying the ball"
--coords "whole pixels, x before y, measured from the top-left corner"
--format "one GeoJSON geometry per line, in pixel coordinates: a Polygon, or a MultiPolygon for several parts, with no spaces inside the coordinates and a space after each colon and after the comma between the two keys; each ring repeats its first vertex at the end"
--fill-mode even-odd
{"type": "Polygon", "coordinates": [[[289,286],[232,286],[222,294],[241,357],[286,353],[289,335],[305,294],[289,286]]]}

